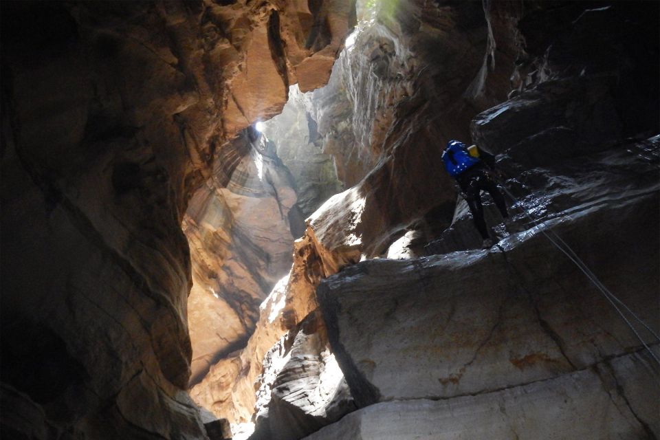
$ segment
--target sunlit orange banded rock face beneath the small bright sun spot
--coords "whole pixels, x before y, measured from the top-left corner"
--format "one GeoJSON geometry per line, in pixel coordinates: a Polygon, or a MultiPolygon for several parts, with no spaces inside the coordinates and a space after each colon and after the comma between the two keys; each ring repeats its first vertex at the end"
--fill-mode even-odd
{"type": "Polygon", "coordinates": [[[218,177],[195,193],[183,221],[192,260],[193,384],[219,357],[247,342],[259,305],[291,268],[293,231],[304,229],[294,211],[295,182],[267,141],[251,142],[244,133],[232,144],[248,153],[226,184],[215,170],[218,177]]]}

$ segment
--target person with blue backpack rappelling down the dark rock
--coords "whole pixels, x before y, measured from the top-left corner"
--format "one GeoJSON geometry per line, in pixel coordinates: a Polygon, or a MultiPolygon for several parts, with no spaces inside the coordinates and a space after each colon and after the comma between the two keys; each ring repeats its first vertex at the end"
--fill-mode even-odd
{"type": "Polygon", "coordinates": [[[504,195],[498,188],[496,179],[498,171],[495,168],[494,155],[481,150],[476,145],[467,147],[463,142],[450,140],[442,153],[442,162],[447,172],[456,179],[461,197],[467,201],[467,206],[472,212],[474,225],[483,239],[481,248],[488,249],[494,245],[483,217],[482,190],[487,191],[493,198],[509,234],[520,232],[520,228],[509,217],[504,195]]]}

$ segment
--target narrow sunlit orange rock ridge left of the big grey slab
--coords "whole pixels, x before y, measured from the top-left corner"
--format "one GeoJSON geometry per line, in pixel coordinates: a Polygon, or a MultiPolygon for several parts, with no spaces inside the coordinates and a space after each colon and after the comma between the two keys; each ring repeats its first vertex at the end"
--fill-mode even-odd
{"type": "Polygon", "coordinates": [[[336,201],[343,202],[345,197],[331,197],[308,220],[305,236],[294,243],[291,272],[262,303],[259,322],[247,347],[212,366],[209,375],[192,388],[191,395],[197,404],[218,417],[228,417],[232,423],[252,419],[256,404],[254,383],[263,372],[265,354],[318,307],[314,291],[323,277],[360,260],[356,236],[346,237],[340,233],[344,230],[336,230],[334,223],[328,223],[331,215],[339,213],[352,221],[353,227],[359,223],[362,201],[358,195],[349,199],[352,201],[344,211],[336,201]],[[311,225],[316,225],[318,232],[311,225]]]}

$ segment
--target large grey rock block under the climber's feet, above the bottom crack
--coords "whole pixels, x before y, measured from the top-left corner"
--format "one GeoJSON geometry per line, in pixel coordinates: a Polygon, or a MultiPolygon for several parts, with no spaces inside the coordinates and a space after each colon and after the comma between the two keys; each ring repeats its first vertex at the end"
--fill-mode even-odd
{"type": "MultiPolygon", "coordinates": [[[[483,393],[639,351],[641,344],[605,298],[540,234],[552,228],[573,243],[588,265],[599,267],[604,285],[657,326],[657,304],[648,294],[657,271],[634,280],[626,276],[657,261],[660,243],[646,233],[658,221],[659,188],[652,177],[657,168],[635,157],[624,168],[628,153],[617,153],[594,164],[610,165],[605,173],[575,176],[583,182],[600,177],[607,184],[583,184],[570,195],[575,203],[584,197],[580,192],[588,191],[584,204],[509,236],[500,244],[505,252],[494,248],[363,262],[321,283],[317,293],[331,342],[356,400],[364,405],[483,393]],[[645,165],[646,177],[640,173],[645,165]],[[630,180],[647,185],[628,190],[619,181],[623,191],[613,192],[610,179],[621,179],[626,168],[630,180]],[[617,243],[613,236],[619,230],[630,231],[627,238],[639,244],[633,249],[617,243]],[[581,243],[584,236],[590,237],[588,247],[581,243]],[[406,373],[401,364],[408,366],[406,373]],[[355,370],[355,377],[348,375],[355,370]]],[[[561,189],[565,193],[575,186],[561,189]]],[[[652,338],[646,342],[654,343],[652,338]]]]}

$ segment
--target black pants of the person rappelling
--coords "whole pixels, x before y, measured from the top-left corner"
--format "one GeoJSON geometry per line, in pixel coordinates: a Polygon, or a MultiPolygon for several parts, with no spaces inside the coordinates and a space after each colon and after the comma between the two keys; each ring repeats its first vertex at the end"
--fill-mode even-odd
{"type": "Polygon", "coordinates": [[[465,170],[465,172],[456,177],[463,194],[465,194],[465,201],[467,206],[470,207],[472,217],[474,217],[474,225],[481,234],[483,239],[490,238],[486,228],[486,221],[483,219],[483,206],[481,205],[481,191],[487,191],[493,198],[495,205],[502,214],[502,217],[507,219],[509,212],[507,212],[507,205],[504,200],[504,195],[500,192],[496,182],[489,177],[483,166],[475,166],[465,170]]]}

